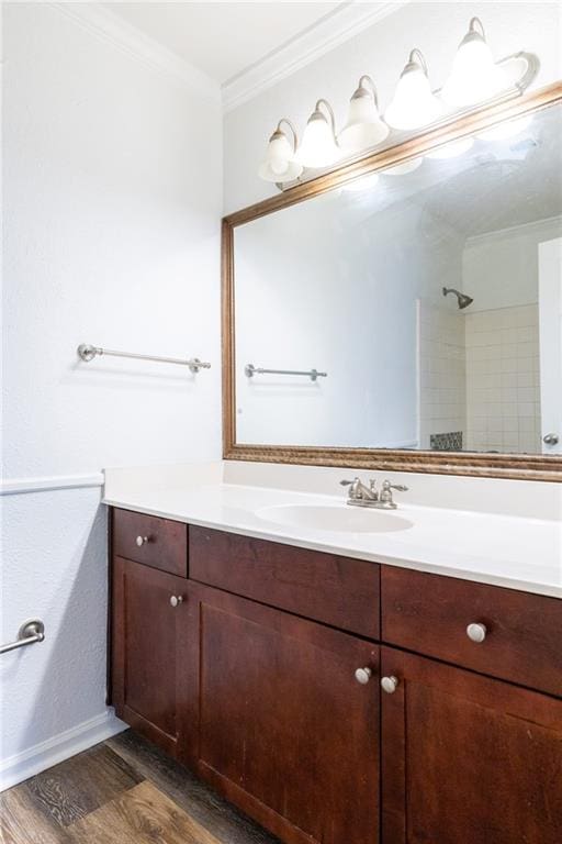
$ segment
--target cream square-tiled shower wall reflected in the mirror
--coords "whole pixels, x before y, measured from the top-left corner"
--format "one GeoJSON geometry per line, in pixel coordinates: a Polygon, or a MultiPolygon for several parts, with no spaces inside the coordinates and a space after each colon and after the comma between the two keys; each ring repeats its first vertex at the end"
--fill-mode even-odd
{"type": "Polygon", "coordinates": [[[539,309],[449,311],[418,302],[419,447],[540,453],[539,309]]]}

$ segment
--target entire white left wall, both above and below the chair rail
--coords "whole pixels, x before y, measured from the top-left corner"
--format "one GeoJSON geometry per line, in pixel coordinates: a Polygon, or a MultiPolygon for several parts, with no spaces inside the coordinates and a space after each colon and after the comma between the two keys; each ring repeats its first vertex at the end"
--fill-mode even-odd
{"type": "MultiPolygon", "coordinates": [[[[48,4],[4,15],[4,480],[220,456],[221,113],[48,4]],[[212,362],[77,362],[80,342],[212,362]]],[[[18,768],[104,713],[99,489],[4,504],[2,745],[18,768]],[[43,745],[42,745],[43,747],[43,745]],[[15,758],[14,758],[15,757],[15,758]]],[[[12,771],[13,773],[13,771],[12,771]]]]}

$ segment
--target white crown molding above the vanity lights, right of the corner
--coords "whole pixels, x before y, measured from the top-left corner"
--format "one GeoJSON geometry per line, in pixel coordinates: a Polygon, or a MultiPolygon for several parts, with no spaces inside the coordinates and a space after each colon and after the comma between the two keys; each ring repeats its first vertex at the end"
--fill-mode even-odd
{"type": "Polygon", "coordinates": [[[223,110],[233,111],[412,0],[341,3],[330,14],[222,85],[223,110]]]}

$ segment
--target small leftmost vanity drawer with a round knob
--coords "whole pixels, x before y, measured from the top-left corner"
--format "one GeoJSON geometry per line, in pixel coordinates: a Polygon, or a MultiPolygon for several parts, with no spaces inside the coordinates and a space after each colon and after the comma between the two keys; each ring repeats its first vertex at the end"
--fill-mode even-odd
{"type": "Polygon", "coordinates": [[[169,519],[113,511],[113,553],[180,577],[188,576],[188,526],[169,519]]]}

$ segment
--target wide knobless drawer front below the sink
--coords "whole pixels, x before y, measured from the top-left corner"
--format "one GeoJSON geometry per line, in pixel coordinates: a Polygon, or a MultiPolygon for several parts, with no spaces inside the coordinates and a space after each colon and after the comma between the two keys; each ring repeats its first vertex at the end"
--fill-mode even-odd
{"type": "Polygon", "coordinates": [[[380,632],[379,566],[223,531],[190,528],[190,577],[371,638],[380,632]]]}

